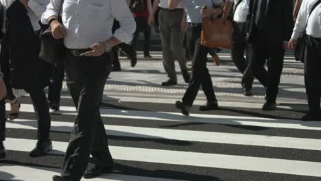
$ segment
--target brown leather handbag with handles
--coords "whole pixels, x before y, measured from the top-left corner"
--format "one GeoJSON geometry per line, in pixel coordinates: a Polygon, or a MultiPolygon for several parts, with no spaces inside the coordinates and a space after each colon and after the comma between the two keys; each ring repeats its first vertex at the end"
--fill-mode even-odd
{"type": "Polygon", "coordinates": [[[233,23],[228,21],[225,16],[222,16],[222,18],[205,17],[202,19],[201,44],[204,47],[232,49],[232,34],[233,23]]]}

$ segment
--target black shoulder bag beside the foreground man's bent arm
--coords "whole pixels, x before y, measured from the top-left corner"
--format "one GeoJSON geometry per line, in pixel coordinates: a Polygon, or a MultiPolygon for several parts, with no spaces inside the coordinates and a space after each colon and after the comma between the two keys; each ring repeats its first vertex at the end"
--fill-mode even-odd
{"type": "MultiPolygon", "coordinates": [[[[62,4],[60,5],[60,12],[62,12],[62,4]]],[[[59,17],[59,22],[62,23],[61,17],[59,17]]],[[[41,47],[39,57],[50,64],[56,65],[58,61],[62,61],[66,57],[66,47],[64,46],[64,39],[55,39],[51,33],[51,27],[45,29],[45,31],[40,35],[41,47]]]]}

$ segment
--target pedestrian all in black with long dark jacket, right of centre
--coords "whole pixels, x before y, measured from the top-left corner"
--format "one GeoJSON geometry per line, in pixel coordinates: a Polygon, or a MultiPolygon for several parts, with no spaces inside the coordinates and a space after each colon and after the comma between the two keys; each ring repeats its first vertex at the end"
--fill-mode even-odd
{"type": "Polygon", "coordinates": [[[246,22],[250,68],[266,88],[262,110],[275,110],[287,41],[294,27],[292,0],[250,0],[246,22]],[[268,71],[264,68],[268,61],[268,71]]]}

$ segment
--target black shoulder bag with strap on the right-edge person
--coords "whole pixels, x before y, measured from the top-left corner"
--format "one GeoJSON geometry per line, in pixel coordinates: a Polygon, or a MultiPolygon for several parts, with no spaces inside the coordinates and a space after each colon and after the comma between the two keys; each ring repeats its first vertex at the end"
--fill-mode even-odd
{"type": "MultiPolygon", "coordinates": [[[[313,10],[315,10],[320,3],[321,3],[321,0],[317,1],[316,4],[313,5],[313,8],[309,13],[309,17],[312,14],[313,10]]],[[[309,20],[309,17],[308,17],[308,20],[309,20]]],[[[301,62],[305,61],[304,58],[305,58],[306,44],[307,44],[307,33],[302,32],[296,42],[296,48],[294,49],[294,57],[296,58],[296,61],[301,61],[301,62]]]]}

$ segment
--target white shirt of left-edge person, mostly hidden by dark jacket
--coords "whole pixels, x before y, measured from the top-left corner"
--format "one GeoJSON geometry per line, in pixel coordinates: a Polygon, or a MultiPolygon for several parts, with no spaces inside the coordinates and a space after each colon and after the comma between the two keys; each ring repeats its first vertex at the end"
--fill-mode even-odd
{"type": "MultiPolygon", "coordinates": [[[[9,8],[15,0],[0,0],[3,5],[3,9],[6,10],[9,8]]],[[[41,16],[43,12],[45,12],[47,5],[49,4],[49,0],[29,0],[28,7],[29,12],[28,16],[30,21],[32,22],[32,27],[34,27],[34,31],[38,31],[41,27],[39,21],[41,20],[41,16]]],[[[5,23],[5,21],[3,21],[5,23]]],[[[2,29],[5,32],[5,26],[2,29]]]]}

